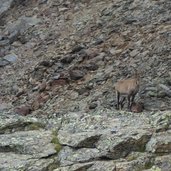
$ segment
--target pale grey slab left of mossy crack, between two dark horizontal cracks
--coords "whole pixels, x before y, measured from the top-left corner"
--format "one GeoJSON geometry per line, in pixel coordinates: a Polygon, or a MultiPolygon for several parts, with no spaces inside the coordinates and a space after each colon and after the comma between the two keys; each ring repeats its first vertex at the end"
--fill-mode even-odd
{"type": "Polygon", "coordinates": [[[51,140],[51,131],[15,132],[0,135],[0,149],[1,152],[32,155],[35,158],[48,157],[56,154],[51,140]]]}

